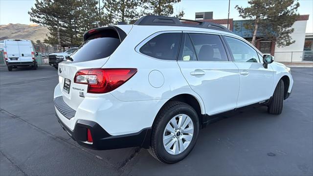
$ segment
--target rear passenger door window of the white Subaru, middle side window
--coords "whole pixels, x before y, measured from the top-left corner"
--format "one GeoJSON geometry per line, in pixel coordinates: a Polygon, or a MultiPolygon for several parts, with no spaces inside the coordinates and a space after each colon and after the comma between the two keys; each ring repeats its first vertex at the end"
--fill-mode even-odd
{"type": "Polygon", "coordinates": [[[224,45],[219,35],[190,34],[198,61],[228,61],[224,45]]]}

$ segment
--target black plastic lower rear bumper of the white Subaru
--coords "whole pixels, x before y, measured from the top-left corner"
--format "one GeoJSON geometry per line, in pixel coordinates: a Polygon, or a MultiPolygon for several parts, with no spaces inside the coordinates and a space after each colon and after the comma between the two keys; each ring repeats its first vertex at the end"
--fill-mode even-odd
{"type": "Polygon", "coordinates": [[[93,150],[110,150],[127,147],[149,148],[151,128],[140,132],[112,136],[99,124],[88,120],[77,120],[74,130],[70,130],[56,113],[58,122],[63,130],[78,144],[93,150]],[[87,142],[87,129],[90,130],[93,142],[87,142]]]}

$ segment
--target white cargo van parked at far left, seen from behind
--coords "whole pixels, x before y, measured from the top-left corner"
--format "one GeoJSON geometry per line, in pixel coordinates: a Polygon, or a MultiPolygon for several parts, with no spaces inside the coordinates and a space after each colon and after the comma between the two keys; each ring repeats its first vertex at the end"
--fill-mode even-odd
{"type": "Polygon", "coordinates": [[[8,70],[18,66],[32,66],[37,69],[35,49],[30,40],[4,40],[4,60],[8,70]]]}

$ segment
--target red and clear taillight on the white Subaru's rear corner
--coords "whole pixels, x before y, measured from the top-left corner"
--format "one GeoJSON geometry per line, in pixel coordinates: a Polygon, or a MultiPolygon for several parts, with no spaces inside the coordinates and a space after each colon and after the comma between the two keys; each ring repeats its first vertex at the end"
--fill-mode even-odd
{"type": "Polygon", "coordinates": [[[87,84],[88,93],[107,93],[120,87],[136,72],[136,68],[82,69],[76,72],[74,83],[87,84]]]}

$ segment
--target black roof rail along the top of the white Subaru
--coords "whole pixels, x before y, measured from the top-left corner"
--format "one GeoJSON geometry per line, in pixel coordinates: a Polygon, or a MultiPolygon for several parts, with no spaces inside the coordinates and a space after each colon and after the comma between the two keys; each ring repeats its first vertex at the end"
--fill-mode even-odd
{"type": "Polygon", "coordinates": [[[194,21],[194,20],[179,19],[176,17],[164,17],[164,16],[156,16],[156,15],[143,16],[140,19],[138,19],[136,22],[134,22],[134,25],[166,25],[166,26],[199,27],[199,28],[215,29],[215,30],[221,30],[225,32],[231,32],[229,29],[227,29],[227,27],[214,23],[214,22],[201,22],[201,21],[194,21]],[[184,23],[181,21],[198,22],[198,24],[184,23]]]}

